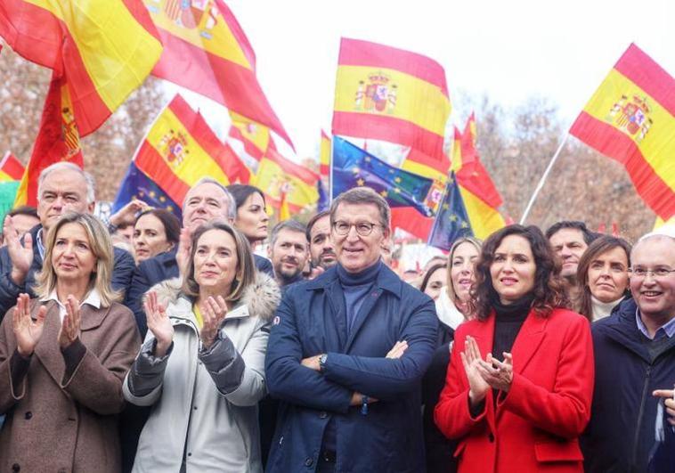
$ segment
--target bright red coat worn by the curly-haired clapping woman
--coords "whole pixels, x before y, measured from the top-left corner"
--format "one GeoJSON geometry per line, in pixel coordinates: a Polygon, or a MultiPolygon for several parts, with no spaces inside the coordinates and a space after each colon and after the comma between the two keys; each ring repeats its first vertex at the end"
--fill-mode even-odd
{"type": "Polygon", "coordinates": [[[484,322],[459,325],[435,407],[438,428],[459,439],[459,472],[583,471],[577,437],[590,419],[594,376],[588,320],[565,309],[546,318],[530,312],[511,350],[511,388],[496,405],[491,389],[484,412],[474,418],[459,353],[470,335],[485,357],[492,350],[494,319],[493,313],[484,322]]]}

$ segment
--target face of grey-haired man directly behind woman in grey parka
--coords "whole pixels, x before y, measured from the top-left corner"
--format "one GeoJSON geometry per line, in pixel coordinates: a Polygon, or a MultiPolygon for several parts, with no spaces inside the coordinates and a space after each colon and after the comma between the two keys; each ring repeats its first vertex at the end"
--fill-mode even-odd
{"type": "Polygon", "coordinates": [[[183,226],[194,232],[199,225],[229,218],[225,192],[215,183],[201,183],[191,188],[183,205],[183,226]]]}

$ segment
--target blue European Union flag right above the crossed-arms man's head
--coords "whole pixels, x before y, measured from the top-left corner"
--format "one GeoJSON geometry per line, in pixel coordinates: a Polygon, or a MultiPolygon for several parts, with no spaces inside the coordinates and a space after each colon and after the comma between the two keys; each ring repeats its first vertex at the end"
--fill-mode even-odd
{"type": "Polygon", "coordinates": [[[433,216],[427,197],[434,181],[393,167],[354,144],[333,136],[332,198],[354,187],[368,186],[379,192],[390,207],[412,207],[433,216]]]}

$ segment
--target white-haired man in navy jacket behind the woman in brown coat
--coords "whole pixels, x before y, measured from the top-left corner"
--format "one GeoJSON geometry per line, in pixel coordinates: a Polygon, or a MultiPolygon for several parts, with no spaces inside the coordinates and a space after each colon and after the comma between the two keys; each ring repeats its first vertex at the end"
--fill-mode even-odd
{"type": "MultiPolygon", "coordinates": [[[[68,212],[94,211],[94,177],[69,162],[45,167],[37,178],[37,224],[23,238],[14,228],[12,217],[4,218],[6,246],[0,249],[0,320],[16,304],[19,294],[35,297],[33,286],[42,270],[47,231],[68,212]]],[[[112,288],[122,293],[129,287],[134,273],[134,257],[115,248],[112,288]]]]}

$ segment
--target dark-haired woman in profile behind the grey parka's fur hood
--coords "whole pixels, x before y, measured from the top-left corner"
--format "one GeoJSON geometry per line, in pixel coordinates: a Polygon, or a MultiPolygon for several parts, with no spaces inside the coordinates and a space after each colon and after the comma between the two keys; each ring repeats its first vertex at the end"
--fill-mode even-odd
{"type": "MultiPolygon", "coordinates": [[[[234,224],[244,233],[251,248],[267,238],[270,216],[267,215],[264,193],[253,185],[231,184],[227,190],[232,194],[237,206],[237,218],[234,224]]],[[[256,269],[273,276],[272,262],[266,257],[254,254],[256,269]]]]}

